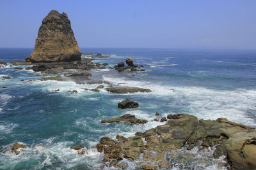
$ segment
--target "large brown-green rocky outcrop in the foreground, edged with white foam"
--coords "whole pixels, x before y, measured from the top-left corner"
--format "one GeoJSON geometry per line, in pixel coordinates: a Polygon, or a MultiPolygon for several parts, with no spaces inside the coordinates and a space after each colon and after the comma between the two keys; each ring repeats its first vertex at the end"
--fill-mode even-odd
{"type": "MultiPolygon", "coordinates": [[[[104,137],[105,142],[100,139],[97,150],[104,151],[103,161],[110,162],[112,166],[116,166],[118,160],[125,157],[130,160],[151,162],[150,164],[153,162],[161,168],[169,168],[164,153],[170,153],[171,150],[179,149],[184,145],[188,146],[188,150],[195,145],[200,145],[202,148],[216,146],[213,156],[218,158],[225,155],[231,169],[256,169],[254,128],[230,122],[227,118],[198,120],[193,115],[175,114],[168,115],[168,119],[170,120],[166,124],[145,132],[136,132],[134,137],[127,138],[122,143],[104,137]],[[147,144],[143,143],[143,138],[147,144]],[[139,157],[141,153],[143,157],[139,157]]],[[[138,164],[138,167],[147,166],[138,164]]]]}

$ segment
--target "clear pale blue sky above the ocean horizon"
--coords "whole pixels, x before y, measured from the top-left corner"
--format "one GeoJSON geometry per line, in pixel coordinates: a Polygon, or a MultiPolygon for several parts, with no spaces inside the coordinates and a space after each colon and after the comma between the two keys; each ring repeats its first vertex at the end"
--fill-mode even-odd
{"type": "Polygon", "coordinates": [[[80,47],[256,49],[255,0],[0,1],[0,47],[34,47],[65,11],[80,47]]]}

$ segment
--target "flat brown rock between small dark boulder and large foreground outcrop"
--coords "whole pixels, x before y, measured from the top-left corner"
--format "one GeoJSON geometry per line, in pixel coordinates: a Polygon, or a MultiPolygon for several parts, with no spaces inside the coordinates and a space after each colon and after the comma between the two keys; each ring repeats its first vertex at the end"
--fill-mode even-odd
{"type": "Polygon", "coordinates": [[[148,121],[136,118],[134,115],[125,114],[122,117],[101,120],[101,123],[130,122],[131,124],[146,124],[148,121]]]}

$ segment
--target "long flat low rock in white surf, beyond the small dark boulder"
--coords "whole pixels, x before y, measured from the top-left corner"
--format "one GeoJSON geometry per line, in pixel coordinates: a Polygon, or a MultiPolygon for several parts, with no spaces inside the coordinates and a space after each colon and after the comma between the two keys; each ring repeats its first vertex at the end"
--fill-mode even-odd
{"type": "Polygon", "coordinates": [[[136,92],[151,92],[150,89],[143,89],[140,87],[128,87],[128,86],[124,86],[124,87],[108,87],[106,88],[106,90],[108,92],[111,93],[136,93],[136,92]]]}

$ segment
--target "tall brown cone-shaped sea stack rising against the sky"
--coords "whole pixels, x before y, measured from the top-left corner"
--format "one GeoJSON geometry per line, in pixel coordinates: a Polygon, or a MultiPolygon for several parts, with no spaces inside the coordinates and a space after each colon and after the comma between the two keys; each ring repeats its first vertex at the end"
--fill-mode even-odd
{"type": "Polygon", "coordinates": [[[69,62],[81,60],[81,54],[67,14],[52,10],[42,21],[35,49],[26,62],[69,62]]]}

